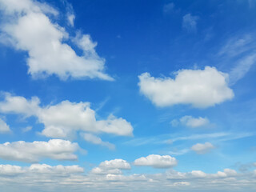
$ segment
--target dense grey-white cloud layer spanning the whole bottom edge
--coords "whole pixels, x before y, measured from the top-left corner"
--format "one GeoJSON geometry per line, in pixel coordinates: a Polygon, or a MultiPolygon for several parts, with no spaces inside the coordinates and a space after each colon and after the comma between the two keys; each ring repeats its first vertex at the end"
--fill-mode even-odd
{"type": "MultiPolygon", "coordinates": [[[[114,168],[114,166],[111,167],[114,168]]],[[[172,169],[157,174],[110,174],[107,172],[84,174],[80,166],[0,165],[0,185],[4,191],[17,191],[18,186],[19,190],[28,192],[34,190],[110,192],[117,189],[125,192],[172,190],[242,192],[246,189],[252,192],[255,187],[255,175],[254,171],[241,174],[230,169],[224,169],[215,174],[208,174],[202,170],[179,172],[172,169]]]]}

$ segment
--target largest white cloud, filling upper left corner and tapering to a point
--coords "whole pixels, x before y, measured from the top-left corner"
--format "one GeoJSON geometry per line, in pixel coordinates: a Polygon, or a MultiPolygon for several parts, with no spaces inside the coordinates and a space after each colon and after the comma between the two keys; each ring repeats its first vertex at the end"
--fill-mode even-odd
{"type": "MultiPolygon", "coordinates": [[[[55,74],[62,80],[114,80],[104,73],[105,59],[96,53],[97,43],[92,42],[88,34],[70,38],[63,27],[50,20],[49,15],[58,15],[53,7],[32,0],[0,0],[0,9],[3,10],[5,21],[0,28],[0,42],[28,53],[26,63],[32,77],[42,78],[55,74]],[[82,56],[78,56],[70,45],[63,42],[73,39],[74,44],[83,50],[82,56]]],[[[74,14],[68,16],[68,20],[73,26],[74,14]]]]}

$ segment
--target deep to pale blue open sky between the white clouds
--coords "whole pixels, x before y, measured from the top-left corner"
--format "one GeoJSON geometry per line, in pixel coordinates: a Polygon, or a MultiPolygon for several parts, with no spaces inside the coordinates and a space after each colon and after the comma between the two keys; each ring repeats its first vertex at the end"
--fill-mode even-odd
{"type": "MultiPolygon", "coordinates": [[[[149,72],[155,77],[169,76],[177,70],[195,67],[203,69],[204,66],[215,66],[222,72],[230,73],[242,56],[239,54],[230,58],[229,55],[219,55],[219,52],[232,39],[238,40],[246,35],[254,38],[256,3],[231,0],[69,1],[76,15],[75,28],[72,28],[63,20],[65,6],[62,1],[47,2],[63,14],[55,22],[65,26],[70,35],[75,35],[75,30],[78,29],[84,34],[90,34],[92,39],[98,42],[96,50],[102,58],[106,58],[106,72],[113,76],[115,81],[71,79],[62,82],[54,76],[33,80],[27,74],[27,54],[0,45],[2,91],[26,98],[38,96],[42,106],[63,100],[91,102],[94,110],[107,99],[98,110],[98,118],[106,118],[110,113],[126,118],[134,126],[134,138],[158,138],[162,134],[178,137],[218,132],[255,133],[255,65],[252,65],[248,73],[231,86],[235,94],[232,101],[201,110],[183,105],[166,108],[154,106],[139,94],[138,75],[149,72]],[[164,6],[168,3],[174,3],[174,6],[164,11],[164,6]],[[182,27],[182,18],[186,14],[197,17],[196,31],[188,31],[182,27]],[[184,126],[170,125],[171,120],[184,115],[207,117],[214,126],[193,130],[184,126]]],[[[250,51],[245,54],[250,54],[250,51]]],[[[13,134],[0,135],[1,142],[48,140],[37,134],[42,130],[42,125],[34,118],[25,121],[15,115],[6,115],[6,122],[13,130],[13,134]],[[28,125],[33,126],[33,130],[22,133],[20,128],[28,125]]],[[[192,151],[173,155],[179,162],[176,170],[216,172],[234,166],[236,162],[253,162],[256,158],[253,150],[256,146],[254,135],[226,142],[205,138],[182,144],[180,142],[161,145],[149,143],[144,146],[125,144],[134,138],[102,135],[103,141],[116,145],[117,149],[112,151],[86,143],[78,136],[74,142],[78,142],[88,154],[78,154],[79,162],[76,163],[90,167],[90,163],[97,165],[99,162],[113,158],[123,158],[133,162],[134,159],[148,154],[166,154],[175,149],[190,149],[197,142],[212,142],[217,148],[205,155],[198,155],[192,151]]],[[[56,163],[50,160],[49,162],[56,163]]],[[[140,169],[144,170],[144,168],[140,169]]]]}

